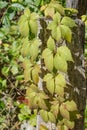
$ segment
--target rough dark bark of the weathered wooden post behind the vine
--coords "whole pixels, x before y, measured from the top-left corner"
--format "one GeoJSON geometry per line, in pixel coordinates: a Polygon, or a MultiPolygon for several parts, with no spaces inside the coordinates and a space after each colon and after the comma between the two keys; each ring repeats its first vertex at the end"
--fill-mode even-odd
{"type": "MultiPolygon", "coordinates": [[[[42,50],[45,48],[46,42],[50,35],[50,31],[47,30],[48,22],[49,20],[46,20],[44,18],[39,20],[40,29],[38,35],[42,41],[42,50]]],[[[84,70],[85,26],[83,22],[79,19],[76,19],[76,23],[77,27],[73,29],[72,43],[66,43],[70,48],[74,58],[74,63],[69,63],[68,79],[71,86],[68,87],[68,92],[70,95],[70,99],[73,99],[76,102],[78,110],[82,116],[82,118],[75,121],[75,128],[73,130],[84,130],[84,111],[86,105],[86,78],[84,70]]],[[[61,43],[57,43],[57,46],[59,46],[60,44],[61,43]]],[[[43,68],[43,61],[41,61],[41,64],[43,68]]],[[[44,73],[45,72],[43,72],[41,77],[43,77],[44,73]]],[[[50,128],[50,125],[48,125],[48,128],[49,130],[52,130],[52,128],[50,128]]]]}

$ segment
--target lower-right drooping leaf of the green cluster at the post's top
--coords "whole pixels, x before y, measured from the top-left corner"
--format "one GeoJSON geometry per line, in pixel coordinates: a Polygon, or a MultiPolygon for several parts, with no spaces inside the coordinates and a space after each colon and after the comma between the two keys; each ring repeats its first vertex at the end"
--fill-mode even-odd
{"type": "Polygon", "coordinates": [[[72,31],[70,30],[70,28],[67,27],[66,25],[60,25],[60,29],[61,29],[62,38],[64,38],[65,40],[71,43],[72,31]]]}

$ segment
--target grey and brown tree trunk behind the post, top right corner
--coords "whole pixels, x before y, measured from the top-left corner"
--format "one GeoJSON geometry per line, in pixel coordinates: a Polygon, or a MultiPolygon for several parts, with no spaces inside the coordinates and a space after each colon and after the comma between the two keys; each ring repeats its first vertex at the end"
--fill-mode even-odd
{"type": "Polygon", "coordinates": [[[66,0],[66,6],[78,10],[78,17],[86,14],[87,0],[66,0]]]}

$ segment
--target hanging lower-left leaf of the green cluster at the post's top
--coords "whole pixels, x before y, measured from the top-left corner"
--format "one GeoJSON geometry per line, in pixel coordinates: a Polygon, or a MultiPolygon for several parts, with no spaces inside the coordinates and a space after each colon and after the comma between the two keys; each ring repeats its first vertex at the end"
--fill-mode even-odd
{"type": "Polygon", "coordinates": [[[57,41],[61,40],[61,29],[59,26],[52,30],[52,37],[57,41]]]}

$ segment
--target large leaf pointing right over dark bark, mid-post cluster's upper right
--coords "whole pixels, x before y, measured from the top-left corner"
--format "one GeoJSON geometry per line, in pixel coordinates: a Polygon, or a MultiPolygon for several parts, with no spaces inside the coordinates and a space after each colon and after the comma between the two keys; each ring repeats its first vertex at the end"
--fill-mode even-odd
{"type": "Polygon", "coordinates": [[[57,54],[63,57],[66,61],[73,61],[70,49],[67,46],[57,48],[57,54]]]}

